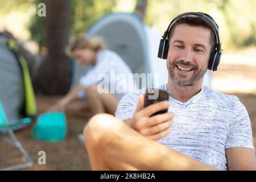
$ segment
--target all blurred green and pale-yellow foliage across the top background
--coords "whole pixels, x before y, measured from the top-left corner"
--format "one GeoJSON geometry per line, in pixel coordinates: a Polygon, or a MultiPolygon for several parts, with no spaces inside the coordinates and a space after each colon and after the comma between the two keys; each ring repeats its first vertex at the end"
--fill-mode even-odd
{"type": "MultiPolygon", "coordinates": [[[[117,5],[130,1],[71,0],[71,38],[84,34],[94,22],[115,10],[117,5]]],[[[0,15],[20,9],[27,11],[30,6],[37,7],[40,2],[44,0],[8,0],[0,6],[0,15]]],[[[238,49],[256,46],[255,7],[255,0],[148,0],[144,22],[158,28],[162,34],[177,14],[203,11],[212,15],[218,23],[222,47],[225,50],[238,49]]],[[[122,10],[123,8],[122,6],[122,10]]],[[[39,43],[39,47],[44,45],[45,40],[43,20],[36,12],[30,21],[31,38],[39,43]]]]}

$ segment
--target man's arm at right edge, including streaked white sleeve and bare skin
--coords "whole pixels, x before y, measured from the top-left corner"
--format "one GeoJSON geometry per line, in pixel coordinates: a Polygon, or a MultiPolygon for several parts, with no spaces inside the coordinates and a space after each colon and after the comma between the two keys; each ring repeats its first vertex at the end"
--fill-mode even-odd
{"type": "Polygon", "coordinates": [[[256,170],[250,118],[237,97],[235,104],[234,122],[226,141],[228,170],[256,170]]]}

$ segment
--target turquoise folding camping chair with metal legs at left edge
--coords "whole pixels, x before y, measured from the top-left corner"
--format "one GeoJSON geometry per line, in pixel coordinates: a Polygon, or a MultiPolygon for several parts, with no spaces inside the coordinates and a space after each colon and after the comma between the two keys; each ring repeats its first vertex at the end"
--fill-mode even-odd
{"type": "Polygon", "coordinates": [[[7,117],[5,114],[5,110],[3,109],[2,102],[0,101],[0,140],[13,144],[15,147],[18,148],[20,152],[22,152],[23,156],[27,160],[27,163],[25,164],[18,164],[16,166],[2,168],[0,169],[0,171],[22,169],[22,168],[27,168],[33,165],[32,159],[27,154],[26,150],[24,150],[24,148],[22,147],[22,144],[18,141],[18,139],[16,139],[14,134],[14,130],[20,127],[20,125],[28,125],[29,123],[31,123],[31,118],[20,119],[19,121],[16,121],[14,123],[7,124],[7,117]],[[5,138],[6,134],[9,134],[11,139],[5,138]]]}

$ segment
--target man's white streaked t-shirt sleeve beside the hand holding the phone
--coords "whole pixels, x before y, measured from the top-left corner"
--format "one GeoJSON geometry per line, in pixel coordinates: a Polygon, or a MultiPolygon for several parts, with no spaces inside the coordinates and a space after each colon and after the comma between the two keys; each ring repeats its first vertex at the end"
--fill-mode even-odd
{"type": "Polygon", "coordinates": [[[133,118],[134,112],[137,108],[139,100],[139,94],[126,94],[123,96],[115,111],[115,117],[126,121],[127,119],[133,118]]]}

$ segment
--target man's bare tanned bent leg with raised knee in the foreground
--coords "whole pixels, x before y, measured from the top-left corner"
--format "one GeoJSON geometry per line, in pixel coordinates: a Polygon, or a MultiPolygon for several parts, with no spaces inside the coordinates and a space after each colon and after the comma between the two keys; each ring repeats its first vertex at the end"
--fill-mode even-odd
{"type": "Polygon", "coordinates": [[[93,170],[213,169],[143,137],[112,115],[95,115],[84,136],[93,170]]]}

